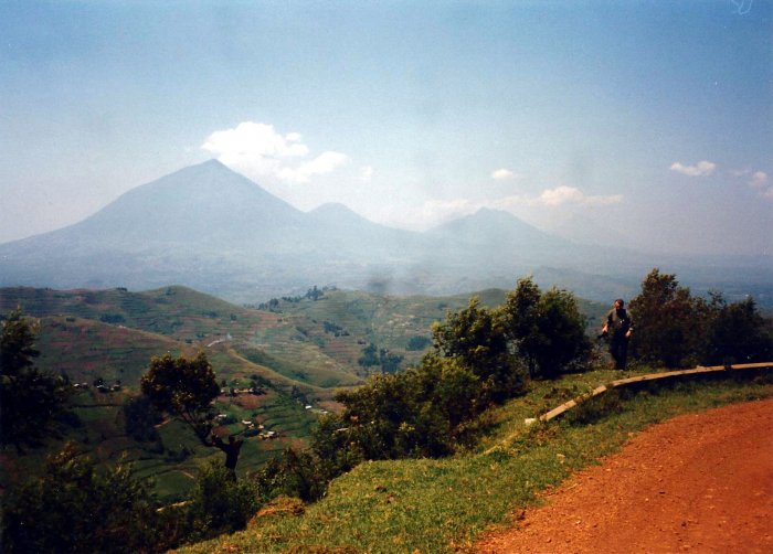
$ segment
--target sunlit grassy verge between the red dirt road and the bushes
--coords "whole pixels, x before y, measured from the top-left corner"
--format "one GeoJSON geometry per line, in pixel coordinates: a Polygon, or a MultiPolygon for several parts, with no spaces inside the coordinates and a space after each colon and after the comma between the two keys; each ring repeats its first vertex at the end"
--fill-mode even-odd
{"type": "Polygon", "coordinates": [[[616,377],[594,372],[537,383],[493,414],[494,432],[476,451],[363,464],[301,515],[277,509],[244,532],[182,552],[465,551],[483,531],[511,524],[540,491],[618,450],[631,433],[687,412],[773,397],[767,376],[675,382],[602,396],[547,425],[523,425],[525,417],[616,377]]]}

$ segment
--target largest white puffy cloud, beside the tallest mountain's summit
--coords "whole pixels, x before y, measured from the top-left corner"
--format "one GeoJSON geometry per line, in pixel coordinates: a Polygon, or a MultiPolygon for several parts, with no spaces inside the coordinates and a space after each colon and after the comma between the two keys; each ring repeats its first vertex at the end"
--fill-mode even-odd
{"type": "Polygon", "coordinates": [[[244,121],[233,129],[211,134],[201,146],[226,166],[254,178],[306,183],[314,175],[335,171],[349,158],[327,151],[309,161],[309,148],[298,132],[282,135],[273,125],[244,121]],[[297,164],[300,160],[300,164],[297,164]]]}

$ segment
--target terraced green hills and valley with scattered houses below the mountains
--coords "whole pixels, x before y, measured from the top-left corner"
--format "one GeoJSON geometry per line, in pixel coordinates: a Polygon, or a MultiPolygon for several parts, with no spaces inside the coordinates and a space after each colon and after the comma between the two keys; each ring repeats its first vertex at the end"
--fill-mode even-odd
{"type": "MultiPolygon", "coordinates": [[[[505,295],[491,289],[479,297],[496,306],[505,295]]],[[[335,407],[330,401],[337,388],[356,386],[381,371],[359,363],[367,348],[401,356],[399,367],[404,369],[428,348],[431,324],[468,300],[468,295],[390,297],[326,289],[256,309],[184,287],[145,292],[15,287],[0,289],[0,317],[21,307],[38,318],[38,365],[88,385],[74,398],[77,425],[49,449],[74,439],[105,462],[126,457],[139,475],[155,477],[161,497],[171,500],[184,496],[203,459],[221,454],[199,445],[173,422],[158,427],[160,440],[128,436],[123,406],[138,395],[152,356],[203,350],[226,391],[248,387],[256,379],[268,383],[264,395],[218,399],[218,411],[235,422],[227,425],[229,433],[243,434],[241,422],[253,420],[277,434],[272,440],[247,438],[240,461],[240,471],[246,472],[284,447],[303,444],[315,413],[335,407]],[[119,390],[98,392],[94,385],[99,382],[119,390]],[[306,409],[308,404],[318,409],[306,409]]],[[[594,326],[605,309],[591,302],[581,307],[594,326]]],[[[23,475],[25,464],[43,459],[42,451],[11,455],[0,484],[23,475]]]]}

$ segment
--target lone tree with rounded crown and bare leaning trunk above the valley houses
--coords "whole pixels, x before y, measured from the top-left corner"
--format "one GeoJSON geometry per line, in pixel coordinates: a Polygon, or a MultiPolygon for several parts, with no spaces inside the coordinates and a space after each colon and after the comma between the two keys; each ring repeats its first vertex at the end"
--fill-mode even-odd
{"type": "Polygon", "coordinates": [[[174,359],[171,354],[153,358],[140,386],[156,409],[186,423],[202,445],[221,449],[226,468],[235,470],[242,440],[224,443],[212,436],[215,426],[212,403],[220,394],[220,386],[207,354],[200,352],[192,360],[183,355],[174,359]]]}

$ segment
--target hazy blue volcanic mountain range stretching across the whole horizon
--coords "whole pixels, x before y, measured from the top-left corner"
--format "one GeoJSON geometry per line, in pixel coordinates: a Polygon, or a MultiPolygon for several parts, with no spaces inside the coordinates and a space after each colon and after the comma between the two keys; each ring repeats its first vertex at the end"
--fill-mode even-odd
{"type": "Polygon", "coordinates": [[[184,285],[242,302],[311,285],[394,294],[511,288],[527,274],[608,300],[635,294],[655,266],[687,271],[698,289],[773,298],[770,259],[587,246],[487,209],[423,233],[396,230],[342,204],[303,212],[215,160],[133,189],[74,225],[0,245],[0,286],[184,285]]]}

